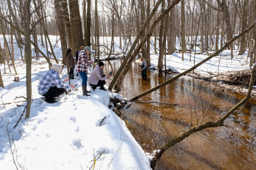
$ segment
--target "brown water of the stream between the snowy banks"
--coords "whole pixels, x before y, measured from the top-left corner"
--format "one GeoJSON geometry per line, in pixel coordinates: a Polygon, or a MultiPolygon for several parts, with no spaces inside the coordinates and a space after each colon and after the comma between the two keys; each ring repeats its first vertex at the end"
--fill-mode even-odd
{"type": "MultiPolygon", "coordinates": [[[[108,65],[107,62],[105,64],[106,72],[113,70],[113,73],[116,73],[120,60],[113,60],[110,63],[111,65],[108,65]]],[[[175,74],[149,70],[147,76],[148,80],[141,79],[140,67],[133,65],[125,76],[123,91],[120,94],[129,99],[174,77],[175,74]]],[[[151,153],[168,139],[189,129],[191,122],[192,125],[200,122],[209,105],[204,122],[218,119],[231,92],[217,89],[211,104],[210,100],[214,89],[214,85],[209,82],[183,76],[138,99],[180,105],[132,103],[123,111],[122,119],[143,150],[151,153]]],[[[243,97],[241,94],[232,94],[226,111],[243,97]]],[[[256,100],[250,99],[244,107],[240,107],[226,119],[225,125],[233,126],[255,118],[256,100]]],[[[253,170],[256,169],[255,166],[256,119],[236,127],[215,127],[193,133],[170,147],[157,162],[156,169],[253,170]]]]}

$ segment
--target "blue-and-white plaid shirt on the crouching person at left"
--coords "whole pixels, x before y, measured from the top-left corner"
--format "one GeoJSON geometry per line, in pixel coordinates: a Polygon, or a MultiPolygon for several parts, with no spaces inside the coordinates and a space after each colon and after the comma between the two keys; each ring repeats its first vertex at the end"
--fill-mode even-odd
{"type": "Polygon", "coordinates": [[[48,71],[38,84],[38,93],[44,95],[51,88],[56,86],[57,88],[71,88],[70,85],[63,84],[64,80],[61,80],[60,75],[53,69],[48,71]]]}

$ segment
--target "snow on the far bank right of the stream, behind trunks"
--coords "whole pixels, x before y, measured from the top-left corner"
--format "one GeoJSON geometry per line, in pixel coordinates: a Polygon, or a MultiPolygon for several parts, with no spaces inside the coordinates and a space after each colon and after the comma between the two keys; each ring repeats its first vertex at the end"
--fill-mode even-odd
{"type": "MultiPolygon", "coordinates": [[[[233,51],[235,54],[238,54],[239,51],[233,51]]],[[[227,71],[239,71],[244,69],[250,69],[249,62],[247,63],[247,55],[239,55],[230,59],[230,50],[224,50],[219,56],[213,57],[206,63],[202,64],[195,71],[200,71],[202,74],[207,74],[209,72],[217,74],[218,72],[227,72],[227,71]],[[221,58],[221,60],[220,60],[221,58]],[[220,62],[219,62],[220,60],[220,62]]],[[[158,63],[158,54],[151,55],[151,66],[149,68],[157,67],[158,63]]],[[[176,73],[181,73],[194,66],[194,54],[191,55],[191,61],[189,61],[190,54],[184,54],[184,60],[181,61],[181,53],[173,53],[172,55],[166,55],[166,68],[172,69],[176,73]]],[[[201,62],[203,59],[207,58],[207,55],[195,55],[195,64],[201,62]]],[[[138,61],[139,62],[139,61],[138,61]]],[[[164,64],[164,62],[163,62],[164,64]]],[[[163,68],[164,69],[164,68],[163,68]]]]}

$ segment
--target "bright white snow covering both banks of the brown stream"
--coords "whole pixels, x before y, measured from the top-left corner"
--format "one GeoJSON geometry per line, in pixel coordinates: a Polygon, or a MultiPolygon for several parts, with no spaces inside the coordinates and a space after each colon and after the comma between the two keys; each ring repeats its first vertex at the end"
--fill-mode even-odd
{"type": "MultiPolygon", "coordinates": [[[[52,36],[53,43],[55,40],[57,38],[52,36]]],[[[0,42],[3,44],[3,37],[0,37],[0,42]]],[[[61,59],[59,47],[59,44],[56,45],[55,52],[61,59]]],[[[43,47],[41,50],[46,52],[43,47]]],[[[30,117],[23,117],[14,128],[26,105],[23,98],[15,99],[26,97],[26,65],[18,60],[18,54],[19,49],[15,52],[18,75],[13,74],[12,66],[12,73],[6,69],[4,74],[4,65],[0,64],[5,86],[0,88],[0,167],[15,170],[16,164],[18,169],[27,170],[85,170],[87,167],[93,169],[93,166],[95,170],[151,169],[149,159],[152,156],[142,150],[125,126],[125,122],[108,108],[111,104],[109,97],[122,96],[99,90],[99,87],[95,91],[91,90],[91,96],[83,96],[81,79],[77,78],[71,80],[71,84],[78,81],[80,83],[69,95],[57,97],[54,104],[46,103],[42,99],[43,96],[37,92],[39,81],[49,70],[43,58],[32,61],[33,101],[30,117]],[[19,77],[20,82],[14,82],[14,77],[19,77]]],[[[206,57],[208,56],[195,55],[195,63],[206,57]]],[[[217,74],[218,71],[249,69],[246,65],[246,53],[242,56],[235,55],[233,60],[229,57],[230,51],[226,50],[221,55],[219,67],[220,57],[214,57],[197,68],[197,71],[205,74],[205,71],[211,71],[217,74]]],[[[151,68],[157,65],[157,60],[158,54],[151,54],[151,68]]],[[[181,61],[181,54],[167,55],[166,61],[167,68],[175,72],[183,72],[193,66],[193,61],[189,62],[189,54],[185,54],[184,61],[181,61]]],[[[55,61],[52,60],[52,63],[55,61]]],[[[66,69],[62,74],[62,79],[68,77],[66,69]]]]}

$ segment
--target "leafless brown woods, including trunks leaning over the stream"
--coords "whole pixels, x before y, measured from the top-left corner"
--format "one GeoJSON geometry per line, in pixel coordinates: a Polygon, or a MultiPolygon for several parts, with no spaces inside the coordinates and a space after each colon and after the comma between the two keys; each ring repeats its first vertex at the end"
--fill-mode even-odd
{"type": "MultiPolygon", "coordinates": [[[[220,60],[224,58],[232,62],[241,59],[241,55],[246,55],[246,63],[241,62],[241,65],[248,65],[251,71],[246,96],[239,102],[234,102],[232,108],[227,109],[226,105],[225,113],[223,111],[218,120],[213,118],[208,122],[202,116],[199,124],[198,122],[192,123],[192,106],[190,105],[191,123],[188,123],[190,128],[184,128],[182,133],[172,136],[172,139],[170,136],[166,137],[161,140],[160,146],[154,145],[153,141],[154,149],[159,149],[159,152],[153,153],[155,151],[147,150],[154,157],[151,160],[153,169],[166,150],[192,133],[203,131],[208,127],[227,127],[224,120],[240,106],[246,105],[254,91],[255,0],[3,0],[0,2],[0,27],[0,35],[3,37],[0,42],[0,65],[3,67],[0,72],[0,87],[5,88],[3,75],[19,74],[15,61],[21,60],[26,65],[24,66],[26,67],[26,96],[23,96],[26,99],[25,119],[30,117],[34,100],[32,79],[35,77],[32,73],[32,61],[41,62],[43,59],[49,70],[55,63],[67,65],[64,56],[69,48],[72,49],[72,55],[76,56],[76,51],[81,45],[90,47],[93,52],[90,53],[88,60],[95,59],[93,69],[101,60],[109,61],[113,56],[122,58],[120,66],[115,70],[108,84],[109,92],[120,94],[124,91],[128,71],[140,57],[145,59],[148,68],[154,66],[160,77],[163,73],[168,74],[170,71],[169,73],[172,74],[175,71],[166,67],[168,61],[166,56],[172,55],[173,58],[176,57],[176,60],[183,63],[188,62],[186,56],[189,56],[191,67],[181,68],[183,72],[163,82],[150,80],[147,82],[151,83],[150,89],[143,92],[137,91],[136,88],[140,88],[139,85],[143,86],[138,83],[138,87],[134,88],[133,96],[128,100],[123,100],[134,101],[134,103],[148,103],[148,101],[136,100],[148,94],[156,95],[153,92],[167,88],[170,83],[174,83],[186,74],[198,74],[194,72],[195,69],[216,56],[219,56],[220,60]],[[230,55],[222,54],[225,50],[229,51],[230,55]],[[178,54],[181,56],[177,57],[178,54]],[[152,55],[157,56],[156,65],[151,63],[152,55]],[[200,62],[196,63],[196,55],[206,57],[200,58],[200,62]]],[[[219,62],[214,65],[219,66],[219,62]]],[[[112,71],[112,65],[110,67],[112,71]]],[[[175,66],[172,67],[175,68],[175,66]]],[[[207,73],[213,74],[211,71],[207,73]]],[[[69,74],[69,68],[67,68],[67,74],[69,74]]],[[[217,86],[218,73],[214,74],[217,74],[217,86]]],[[[70,84],[72,83],[69,81],[70,84]]],[[[170,93],[172,90],[169,89],[170,93]]],[[[67,96],[69,92],[66,91],[67,96]]],[[[210,107],[215,97],[214,93],[209,94],[211,100],[207,101],[209,102],[207,107],[210,107]]],[[[187,95],[189,99],[189,95],[194,94],[187,93],[187,95]]],[[[202,102],[201,94],[196,97],[202,102]]],[[[154,104],[168,103],[151,102],[154,104]]],[[[182,107],[182,104],[176,105],[182,107]]],[[[202,113],[205,111],[203,104],[202,106],[195,105],[195,110],[196,107],[202,113]]],[[[204,114],[206,113],[207,111],[204,114]]]]}

